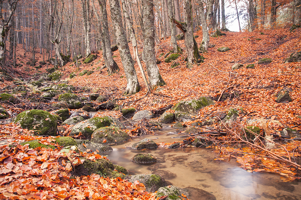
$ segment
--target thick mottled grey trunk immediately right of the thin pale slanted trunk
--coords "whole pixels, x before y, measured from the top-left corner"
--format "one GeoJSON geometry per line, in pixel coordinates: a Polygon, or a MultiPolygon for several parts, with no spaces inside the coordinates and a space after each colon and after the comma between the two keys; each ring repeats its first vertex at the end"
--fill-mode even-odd
{"type": "Polygon", "coordinates": [[[143,0],[143,24],[144,24],[144,62],[147,69],[150,86],[162,86],[166,83],[159,73],[155,56],[155,26],[153,0],[143,0]]]}

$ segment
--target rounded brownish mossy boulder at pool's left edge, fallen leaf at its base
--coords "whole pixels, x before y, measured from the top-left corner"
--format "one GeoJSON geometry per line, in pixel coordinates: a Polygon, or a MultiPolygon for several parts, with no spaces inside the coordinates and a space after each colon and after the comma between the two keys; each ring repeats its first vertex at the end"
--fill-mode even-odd
{"type": "Polygon", "coordinates": [[[115,144],[129,140],[131,137],[117,127],[102,127],[96,129],[91,137],[91,142],[100,144],[115,144]]]}

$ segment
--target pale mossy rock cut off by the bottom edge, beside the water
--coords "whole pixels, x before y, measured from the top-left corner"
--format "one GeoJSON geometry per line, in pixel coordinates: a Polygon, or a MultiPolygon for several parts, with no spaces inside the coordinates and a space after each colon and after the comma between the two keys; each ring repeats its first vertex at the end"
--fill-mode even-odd
{"type": "Polygon", "coordinates": [[[160,187],[157,191],[157,197],[167,196],[165,200],[182,200],[182,194],[188,196],[187,191],[173,185],[160,187]]]}

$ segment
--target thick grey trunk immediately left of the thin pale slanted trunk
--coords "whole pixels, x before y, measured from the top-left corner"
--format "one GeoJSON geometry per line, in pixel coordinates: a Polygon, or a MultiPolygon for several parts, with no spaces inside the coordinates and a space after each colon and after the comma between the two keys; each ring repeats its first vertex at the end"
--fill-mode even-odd
{"type": "Polygon", "coordinates": [[[110,0],[110,8],[117,46],[127,80],[127,86],[124,95],[135,94],[139,92],[140,85],[134,68],[134,62],[129,51],[129,45],[124,35],[119,0],[110,0]]]}

